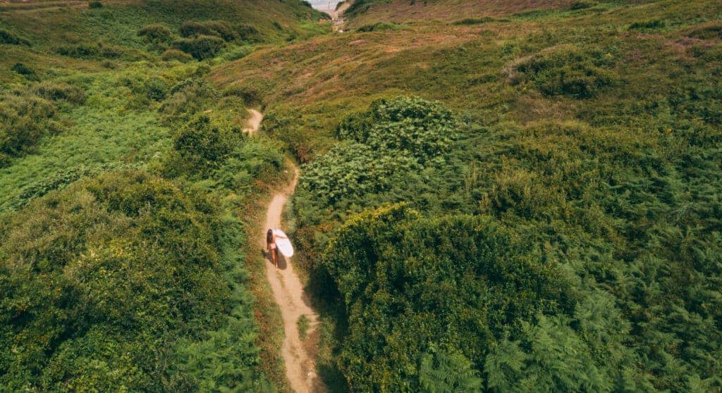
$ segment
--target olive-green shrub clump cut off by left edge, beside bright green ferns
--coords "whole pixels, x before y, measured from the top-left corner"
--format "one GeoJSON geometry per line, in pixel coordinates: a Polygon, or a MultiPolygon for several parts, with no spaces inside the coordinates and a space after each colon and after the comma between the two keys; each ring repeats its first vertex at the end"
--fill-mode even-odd
{"type": "Polygon", "coordinates": [[[52,102],[23,91],[0,95],[0,167],[61,129],[52,102]]]}

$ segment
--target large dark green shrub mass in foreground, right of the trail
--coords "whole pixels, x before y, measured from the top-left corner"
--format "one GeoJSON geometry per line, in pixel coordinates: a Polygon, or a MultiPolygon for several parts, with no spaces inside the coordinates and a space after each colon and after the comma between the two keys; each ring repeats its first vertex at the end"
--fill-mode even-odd
{"type": "MultiPolygon", "coordinates": [[[[348,313],[340,362],[349,385],[417,391],[441,379],[478,389],[490,344],[526,337],[523,321],[537,314],[573,314],[559,266],[516,239],[490,218],[425,219],[404,206],[349,218],[322,262],[348,313]]],[[[597,379],[608,367],[571,353],[562,362],[577,358],[597,379]]]]}

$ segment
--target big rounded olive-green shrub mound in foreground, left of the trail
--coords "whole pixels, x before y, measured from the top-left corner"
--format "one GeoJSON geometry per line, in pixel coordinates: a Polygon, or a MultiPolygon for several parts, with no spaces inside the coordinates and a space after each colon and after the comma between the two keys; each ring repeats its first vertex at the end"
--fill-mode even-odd
{"type": "Polygon", "coordinates": [[[0,349],[14,354],[0,357],[0,386],[164,391],[263,384],[254,372],[249,295],[238,281],[247,276],[235,251],[243,242],[238,222],[221,224],[199,193],[125,171],[6,218],[0,349]]]}

